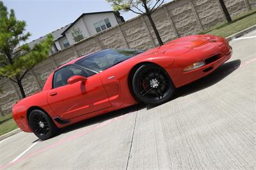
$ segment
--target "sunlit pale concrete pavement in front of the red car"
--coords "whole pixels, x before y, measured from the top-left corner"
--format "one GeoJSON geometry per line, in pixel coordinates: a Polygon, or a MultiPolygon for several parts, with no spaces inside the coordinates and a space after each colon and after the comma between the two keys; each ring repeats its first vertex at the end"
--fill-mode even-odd
{"type": "Polygon", "coordinates": [[[47,141],[0,141],[0,169],[256,169],[256,31],[172,101],[138,105],[63,129],[47,141]]]}

